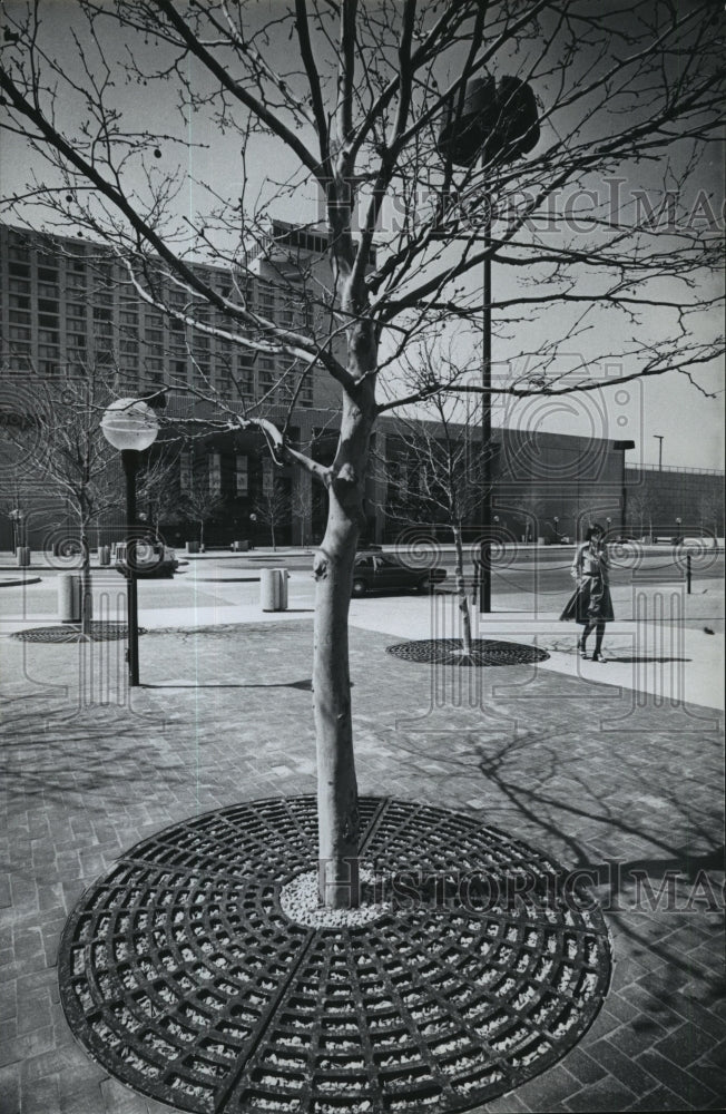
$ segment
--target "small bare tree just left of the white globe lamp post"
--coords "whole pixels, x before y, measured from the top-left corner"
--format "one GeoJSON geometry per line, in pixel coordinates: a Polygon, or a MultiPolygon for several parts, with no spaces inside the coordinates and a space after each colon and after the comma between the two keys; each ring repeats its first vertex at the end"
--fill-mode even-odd
{"type": "Polygon", "coordinates": [[[118,502],[118,453],[108,443],[100,419],[114,394],[106,371],[85,365],[81,377],[59,383],[30,372],[35,401],[27,420],[3,423],[0,438],[22,452],[22,470],[46,497],[65,500],[78,522],[81,568],[81,631],[92,616],[89,531],[118,502]]]}

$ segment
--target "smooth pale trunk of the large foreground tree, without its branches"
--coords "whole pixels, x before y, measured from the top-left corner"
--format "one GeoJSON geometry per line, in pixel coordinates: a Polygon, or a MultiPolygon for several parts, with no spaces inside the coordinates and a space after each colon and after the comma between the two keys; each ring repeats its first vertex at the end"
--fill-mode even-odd
{"type": "Polygon", "coordinates": [[[363,494],[373,424],[373,387],[343,397],[337,453],[328,481],[325,537],[315,555],[313,691],[317,739],[318,891],[321,903],[356,908],[359,811],[347,615],[355,545],[363,524],[363,494]]]}

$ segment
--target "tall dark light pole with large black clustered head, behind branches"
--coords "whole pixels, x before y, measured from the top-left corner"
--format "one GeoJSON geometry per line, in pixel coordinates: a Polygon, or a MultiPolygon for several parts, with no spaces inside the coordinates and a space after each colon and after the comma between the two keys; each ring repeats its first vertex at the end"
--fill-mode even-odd
{"type": "MultiPolygon", "coordinates": [[[[463,97],[448,106],[447,120],[438,146],[443,157],[459,166],[472,167],[477,158],[484,166],[502,166],[520,158],[539,140],[537,101],[531,87],[518,77],[477,77],[467,82],[463,97]],[[454,111],[454,108],[458,108],[454,111]]],[[[491,198],[487,198],[482,283],[482,511],[479,610],[491,612],[491,198]]]]}

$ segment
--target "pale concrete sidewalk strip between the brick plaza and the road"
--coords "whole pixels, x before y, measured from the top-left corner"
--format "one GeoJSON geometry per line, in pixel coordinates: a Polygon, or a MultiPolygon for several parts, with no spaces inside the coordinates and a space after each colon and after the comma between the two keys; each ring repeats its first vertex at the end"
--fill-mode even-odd
{"type": "MultiPolygon", "coordinates": [[[[243,570],[230,578],[235,584],[254,582],[258,570],[243,570]]],[[[225,576],[198,577],[200,587],[222,594],[219,602],[204,603],[202,594],[194,606],[145,606],[139,602],[139,622],[147,629],[213,627],[218,624],[281,623],[311,618],[313,599],[310,573],[290,574],[290,604],[285,612],[263,612],[255,599],[234,604],[224,600],[225,576]]],[[[125,619],[124,583],[114,598],[100,603],[96,584],[95,614],[111,620],[125,619]],[[104,610],[101,610],[101,606],[104,610]]],[[[147,582],[153,583],[153,582],[147,582]]],[[[105,589],[107,590],[107,589],[105,589]]],[[[0,613],[0,632],[58,624],[55,587],[48,590],[45,610],[32,614],[0,613]],[[51,609],[52,608],[52,609],[51,609]]],[[[687,595],[681,583],[616,586],[612,598],[617,622],[607,626],[604,643],[606,664],[583,661],[577,653],[581,627],[560,623],[559,613],[550,610],[552,597],[541,596],[539,610],[532,612],[523,593],[498,592],[491,615],[472,608],[473,636],[523,642],[546,649],[550,657],[541,668],[566,676],[580,677],[590,687],[597,685],[648,693],[678,705],[699,704],[724,707],[724,590],[718,580],[695,580],[687,595]],[[637,616],[637,619],[635,618],[637,616]],[[714,633],[708,633],[713,631],[714,633]]],[[[556,597],[561,603],[558,594],[556,597]]],[[[2,603],[2,600],[0,600],[2,603]]],[[[424,599],[414,595],[379,595],[351,600],[351,624],[405,638],[459,637],[455,597],[434,595],[424,599]]],[[[589,652],[593,646],[590,637],[589,652]]]]}

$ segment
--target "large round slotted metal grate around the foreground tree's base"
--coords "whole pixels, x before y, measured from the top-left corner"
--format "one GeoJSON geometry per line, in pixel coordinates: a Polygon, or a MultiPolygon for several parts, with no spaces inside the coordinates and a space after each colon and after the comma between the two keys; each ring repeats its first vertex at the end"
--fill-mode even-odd
{"type": "Polygon", "coordinates": [[[607,990],[602,915],[557,866],[468,815],[365,798],[384,908],[306,927],[281,891],[315,800],[267,800],[137,844],[61,941],[68,1022],[105,1069],[185,1111],[463,1111],[551,1066],[607,990]]]}

